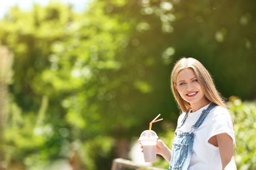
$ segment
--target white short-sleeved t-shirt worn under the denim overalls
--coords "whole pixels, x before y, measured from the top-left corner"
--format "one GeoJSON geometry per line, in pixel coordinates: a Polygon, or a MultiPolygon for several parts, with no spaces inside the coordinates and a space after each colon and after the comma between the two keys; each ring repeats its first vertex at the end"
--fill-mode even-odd
{"type": "MultiPolygon", "coordinates": [[[[189,132],[191,126],[196,124],[196,121],[202,114],[203,109],[207,109],[209,105],[202,107],[196,112],[188,113],[188,118],[181,128],[177,131],[189,132]]],[[[183,112],[178,119],[178,126],[185,116],[186,112],[183,112]]],[[[220,133],[227,133],[235,143],[234,128],[232,119],[228,110],[223,107],[216,106],[210,110],[209,114],[203,121],[202,125],[194,131],[195,138],[192,148],[192,158],[188,166],[188,170],[200,170],[200,169],[222,169],[221,156],[219,148],[208,143],[209,139],[220,133]]]]}

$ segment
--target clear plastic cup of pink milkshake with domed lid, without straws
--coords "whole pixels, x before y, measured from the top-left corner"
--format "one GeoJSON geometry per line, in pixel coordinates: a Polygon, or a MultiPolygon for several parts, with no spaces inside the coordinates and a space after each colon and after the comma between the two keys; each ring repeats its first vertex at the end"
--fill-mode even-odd
{"type": "Polygon", "coordinates": [[[146,162],[156,161],[156,140],[158,139],[158,135],[156,132],[145,130],[140,135],[140,142],[143,146],[143,154],[144,160],[146,162]],[[150,135],[148,136],[148,134],[150,135]]]}

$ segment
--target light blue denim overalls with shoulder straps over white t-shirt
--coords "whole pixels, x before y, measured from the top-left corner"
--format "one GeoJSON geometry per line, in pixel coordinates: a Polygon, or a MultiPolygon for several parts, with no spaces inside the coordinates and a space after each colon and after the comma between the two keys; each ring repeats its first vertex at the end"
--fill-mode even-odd
{"type": "Polygon", "coordinates": [[[195,134],[193,133],[193,131],[198,129],[198,127],[201,126],[201,124],[203,123],[203,120],[205,120],[209,111],[213,109],[213,107],[215,106],[216,106],[215,103],[211,103],[206,110],[203,110],[196,124],[194,124],[191,127],[190,132],[177,132],[177,129],[183,126],[184,123],[186,122],[186,118],[188,118],[188,112],[190,112],[190,110],[186,112],[186,115],[184,116],[181,122],[181,126],[177,127],[177,129],[175,130],[175,139],[173,141],[173,152],[172,152],[171,161],[170,161],[168,170],[187,170],[188,169],[188,165],[190,163],[191,156],[192,156],[192,148],[193,148],[194,137],[195,137],[195,134]]]}

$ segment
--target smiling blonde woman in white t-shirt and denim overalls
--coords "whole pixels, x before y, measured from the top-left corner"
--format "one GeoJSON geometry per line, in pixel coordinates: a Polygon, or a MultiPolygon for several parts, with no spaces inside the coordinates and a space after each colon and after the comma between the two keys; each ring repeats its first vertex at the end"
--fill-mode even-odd
{"type": "Polygon", "coordinates": [[[171,73],[171,90],[181,109],[173,150],[157,141],[169,170],[236,169],[234,128],[228,108],[200,61],[182,58],[171,73]]]}

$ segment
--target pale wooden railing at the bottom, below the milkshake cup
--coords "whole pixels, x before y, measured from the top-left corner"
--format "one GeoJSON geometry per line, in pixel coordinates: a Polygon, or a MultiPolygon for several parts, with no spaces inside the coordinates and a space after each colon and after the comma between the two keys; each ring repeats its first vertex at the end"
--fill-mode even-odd
{"type": "Polygon", "coordinates": [[[112,161],[111,170],[126,170],[126,169],[137,169],[137,170],[166,170],[159,167],[150,167],[146,165],[140,165],[130,160],[124,160],[122,158],[117,158],[112,161]]]}

